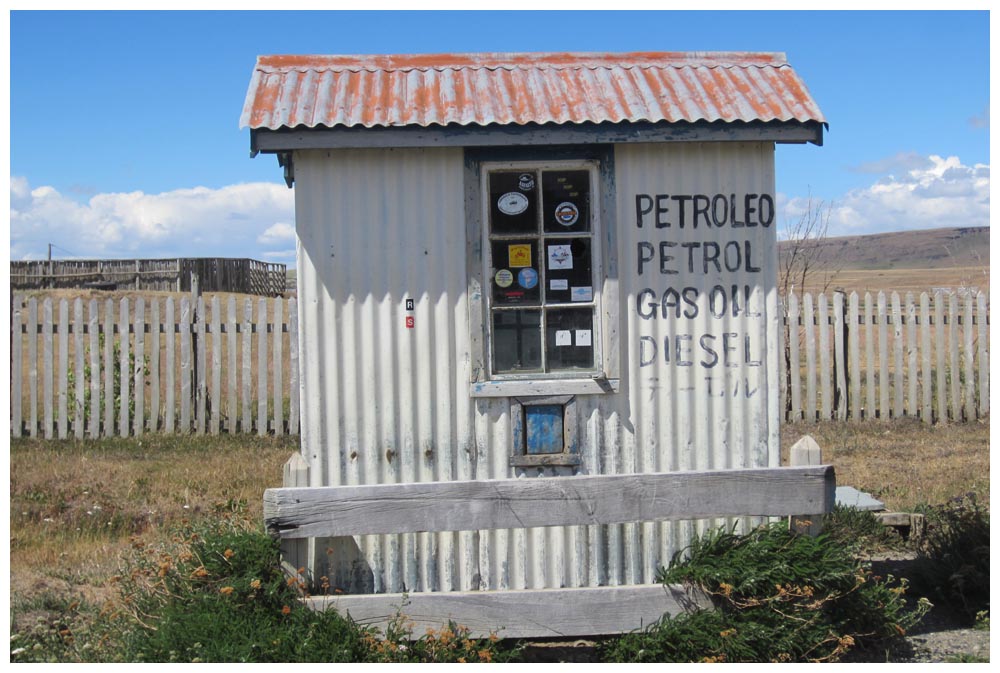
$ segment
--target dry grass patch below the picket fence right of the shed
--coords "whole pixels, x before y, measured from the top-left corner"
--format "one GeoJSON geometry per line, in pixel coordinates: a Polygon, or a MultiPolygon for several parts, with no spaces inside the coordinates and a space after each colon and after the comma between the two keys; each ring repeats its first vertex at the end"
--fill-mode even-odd
{"type": "Polygon", "coordinates": [[[912,511],[975,493],[989,506],[990,425],[980,422],[927,426],[917,420],[796,423],[781,430],[783,463],[803,435],[823,450],[837,484],[871,493],[889,510],[912,511]]]}

